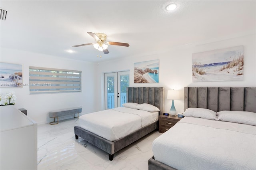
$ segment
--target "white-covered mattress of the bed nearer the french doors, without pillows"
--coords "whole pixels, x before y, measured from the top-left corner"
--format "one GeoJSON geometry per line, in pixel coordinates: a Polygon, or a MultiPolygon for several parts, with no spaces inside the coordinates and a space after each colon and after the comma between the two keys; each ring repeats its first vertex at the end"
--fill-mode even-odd
{"type": "Polygon", "coordinates": [[[117,107],[82,115],[79,117],[78,125],[107,140],[114,141],[157,120],[158,112],[117,107]]]}

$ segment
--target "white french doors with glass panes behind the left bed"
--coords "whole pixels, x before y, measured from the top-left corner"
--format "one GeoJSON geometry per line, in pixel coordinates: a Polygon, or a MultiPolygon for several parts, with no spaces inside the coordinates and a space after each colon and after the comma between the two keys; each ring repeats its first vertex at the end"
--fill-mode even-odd
{"type": "Polygon", "coordinates": [[[105,73],[105,110],[126,103],[126,87],[129,87],[129,71],[105,73]]]}

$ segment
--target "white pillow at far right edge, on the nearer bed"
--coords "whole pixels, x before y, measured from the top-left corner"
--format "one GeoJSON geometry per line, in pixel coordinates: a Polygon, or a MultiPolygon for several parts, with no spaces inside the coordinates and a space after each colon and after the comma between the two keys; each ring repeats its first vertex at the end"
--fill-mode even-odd
{"type": "Polygon", "coordinates": [[[217,112],[220,121],[242,123],[256,126],[256,113],[246,111],[220,111],[217,112]]]}

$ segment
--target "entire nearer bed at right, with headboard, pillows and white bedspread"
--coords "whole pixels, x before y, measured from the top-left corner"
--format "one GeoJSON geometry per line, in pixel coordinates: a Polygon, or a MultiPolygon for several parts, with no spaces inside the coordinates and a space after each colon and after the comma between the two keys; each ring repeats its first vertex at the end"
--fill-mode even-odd
{"type": "Polygon", "coordinates": [[[256,169],[256,87],[184,87],[184,111],[154,140],[149,170],[256,169]]]}

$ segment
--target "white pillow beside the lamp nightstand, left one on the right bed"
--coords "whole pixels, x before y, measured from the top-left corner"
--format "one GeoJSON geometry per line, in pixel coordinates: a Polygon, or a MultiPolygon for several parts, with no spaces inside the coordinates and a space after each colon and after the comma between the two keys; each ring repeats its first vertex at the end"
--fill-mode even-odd
{"type": "Polygon", "coordinates": [[[210,109],[190,107],[186,109],[183,115],[186,117],[200,117],[204,119],[215,120],[217,113],[210,109]]]}

